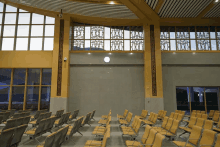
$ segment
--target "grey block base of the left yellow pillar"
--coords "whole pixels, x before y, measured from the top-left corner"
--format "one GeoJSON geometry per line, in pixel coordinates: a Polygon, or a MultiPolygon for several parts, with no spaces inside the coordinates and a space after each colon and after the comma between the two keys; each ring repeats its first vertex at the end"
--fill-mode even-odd
{"type": "Polygon", "coordinates": [[[58,110],[64,109],[64,112],[67,112],[67,98],[63,97],[54,97],[50,98],[50,112],[56,114],[58,110]]]}

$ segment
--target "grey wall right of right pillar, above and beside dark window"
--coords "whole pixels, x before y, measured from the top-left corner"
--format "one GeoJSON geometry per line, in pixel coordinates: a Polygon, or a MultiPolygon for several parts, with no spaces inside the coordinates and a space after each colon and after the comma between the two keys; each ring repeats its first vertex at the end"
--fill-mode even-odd
{"type": "Polygon", "coordinates": [[[220,53],[162,53],[164,109],[173,112],[176,86],[220,86],[220,53]]]}

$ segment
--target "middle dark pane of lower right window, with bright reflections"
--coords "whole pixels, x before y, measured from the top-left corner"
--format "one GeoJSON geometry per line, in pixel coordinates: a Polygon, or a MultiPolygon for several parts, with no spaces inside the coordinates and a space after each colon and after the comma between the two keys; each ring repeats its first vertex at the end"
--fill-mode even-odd
{"type": "Polygon", "coordinates": [[[203,87],[191,87],[191,107],[192,110],[205,110],[204,102],[204,88],[203,87]]]}

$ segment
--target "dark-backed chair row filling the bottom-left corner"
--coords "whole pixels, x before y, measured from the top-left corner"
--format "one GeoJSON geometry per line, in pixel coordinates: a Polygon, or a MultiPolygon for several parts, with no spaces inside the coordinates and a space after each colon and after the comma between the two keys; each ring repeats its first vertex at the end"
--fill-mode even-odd
{"type": "Polygon", "coordinates": [[[21,142],[21,138],[27,126],[28,126],[27,124],[24,124],[18,127],[13,127],[7,130],[3,130],[0,133],[0,146],[1,147],[18,146],[18,144],[21,142]]]}

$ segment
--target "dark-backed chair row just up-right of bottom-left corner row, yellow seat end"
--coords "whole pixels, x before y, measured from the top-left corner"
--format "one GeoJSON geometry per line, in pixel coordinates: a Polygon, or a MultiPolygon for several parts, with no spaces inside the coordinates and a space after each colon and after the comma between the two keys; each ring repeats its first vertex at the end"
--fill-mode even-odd
{"type": "Polygon", "coordinates": [[[55,117],[42,119],[35,128],[26,131],[25,134],[27,134],[30,139],[35,139],[42,134],[52,132],[51,130],[53,128],[55,120],[55,117]]]}

